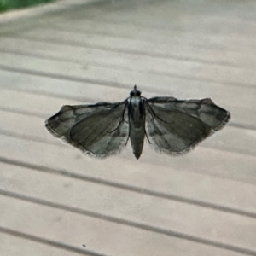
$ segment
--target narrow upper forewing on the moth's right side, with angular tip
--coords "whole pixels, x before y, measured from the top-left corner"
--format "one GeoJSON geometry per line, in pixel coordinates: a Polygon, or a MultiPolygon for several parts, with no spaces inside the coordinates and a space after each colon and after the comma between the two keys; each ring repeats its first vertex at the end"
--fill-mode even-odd
{"type": "Polygon", "coordinates": [[[154,97],[148,102],[159,109],[186,113],[201,119],[212,128],[211,133],[222,129],[230,120],[230,112],[218,107],[210,98],[180,101],[173,97],[154,97]]]}

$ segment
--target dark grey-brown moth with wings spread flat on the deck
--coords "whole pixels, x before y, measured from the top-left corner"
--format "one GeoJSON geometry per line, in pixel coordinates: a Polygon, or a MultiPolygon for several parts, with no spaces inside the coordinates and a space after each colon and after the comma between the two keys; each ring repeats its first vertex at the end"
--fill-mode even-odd
{"type": "Polygon", "coordinates": [[[124,102],[66,105],[47,119],[45,126],[55,137],[100,158],[119,153],[130,138],[133,154],[139,159],[145,139],[156,151],[184,154],[223,128],[229,119],[230,113],[210,98],[147,99],[135,85],[124,102]]]}

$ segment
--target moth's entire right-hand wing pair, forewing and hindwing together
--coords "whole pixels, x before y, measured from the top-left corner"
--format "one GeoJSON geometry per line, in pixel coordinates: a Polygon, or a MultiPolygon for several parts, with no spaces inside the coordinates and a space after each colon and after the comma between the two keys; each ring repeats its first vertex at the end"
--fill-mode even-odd
{"type": "Polygon", "coordinates": [[[184,154],[227,124],[230,113],[211,99],[154,97],[146,103],[146,131],[156,151],[184,154]]]}

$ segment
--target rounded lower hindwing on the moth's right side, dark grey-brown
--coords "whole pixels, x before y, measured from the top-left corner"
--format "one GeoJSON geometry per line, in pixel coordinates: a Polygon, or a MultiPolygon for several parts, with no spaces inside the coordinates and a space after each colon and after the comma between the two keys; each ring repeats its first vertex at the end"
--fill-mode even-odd
{"type": "MultiPolygon", "coordinates": [[[[165,99],[153,98],[146,102],[149,143],[156,151],[172,155],[184,154],[210,135],[211,123],[184,111],[182,107],[176,108],[173,104],[175,101],[162,102],[165,99]]],[[[199,108],[198,103],[193,104],[199,108]]]]}

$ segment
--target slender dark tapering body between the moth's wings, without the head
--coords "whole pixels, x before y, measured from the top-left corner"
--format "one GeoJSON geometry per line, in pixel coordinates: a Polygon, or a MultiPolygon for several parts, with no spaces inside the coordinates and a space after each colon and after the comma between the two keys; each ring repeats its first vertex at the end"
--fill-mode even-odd
{"type": "Polygon", "coordinates": [[[131,147],[138,159],[143,152],[146,122],[144,100],[140,95],[131,96],[128,111],[131,147]]]}

